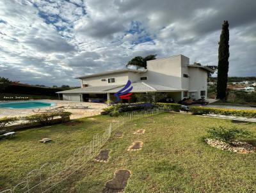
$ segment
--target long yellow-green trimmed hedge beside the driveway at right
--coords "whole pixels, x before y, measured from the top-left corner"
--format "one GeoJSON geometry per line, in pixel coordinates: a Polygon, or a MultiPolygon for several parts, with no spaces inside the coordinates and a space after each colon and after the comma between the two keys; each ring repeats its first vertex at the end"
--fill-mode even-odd
{"type": "Polygon", "coordinates": [[[190,107],[193,114],[221,114],[227,116],[241,116],[246,118],[256,118],[255,110],[240,110],[240,109],[220,109],[210,107],[190,107]]]}

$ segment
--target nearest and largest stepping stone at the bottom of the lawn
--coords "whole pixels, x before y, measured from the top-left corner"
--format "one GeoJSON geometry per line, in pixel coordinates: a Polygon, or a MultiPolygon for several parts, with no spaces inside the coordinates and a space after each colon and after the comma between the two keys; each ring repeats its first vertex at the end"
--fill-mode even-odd
{"type": "Polygon", "coordinates": [[[131,176],[128,169],[118,169],[115,171],[114,178],[107,181],[102,193],[119,193],[124,192],[127,181],[131,176]]]}

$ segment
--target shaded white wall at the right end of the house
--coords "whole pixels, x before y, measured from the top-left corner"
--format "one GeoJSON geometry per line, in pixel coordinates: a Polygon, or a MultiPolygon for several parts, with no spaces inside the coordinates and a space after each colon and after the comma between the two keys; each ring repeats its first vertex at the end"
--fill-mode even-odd
{"type": "Polygon", "coordinates": [[[205,70],[189,67],[189,91],[196,91],[196,99],[201,98],[200,91],[205,91],[205,98],[207,98],[207,72],[205,70]]]}

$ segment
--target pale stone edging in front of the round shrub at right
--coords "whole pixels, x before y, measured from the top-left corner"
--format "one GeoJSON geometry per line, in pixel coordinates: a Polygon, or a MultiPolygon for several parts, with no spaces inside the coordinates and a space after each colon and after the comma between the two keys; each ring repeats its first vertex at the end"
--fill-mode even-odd
{"type": "Polygon", "coordinates": [[[233,141],[232,143],[225,143],[217,139],[205,139],[205,142],[214,148],[220,150],[232,151],[235,153],[255,153],[256,147],[247,142],[233,141]]]}

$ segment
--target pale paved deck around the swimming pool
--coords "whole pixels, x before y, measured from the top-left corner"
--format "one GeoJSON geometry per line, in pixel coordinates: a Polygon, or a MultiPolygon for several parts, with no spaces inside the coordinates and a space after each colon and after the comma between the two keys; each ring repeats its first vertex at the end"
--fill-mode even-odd
{"type": "MultiPolygon", "coordinates": [[[[56,106],[54,107],[68,106],[68,105],[74,105],[74,104],[83,104],[84,106],[88,106],[88,109],[65,109],[65,111],[72,112],[72,115],[70,117],[72,120],[100,114],[100,112],[102,112],[102,109],[108,107],[108,105],[106,104],[92,103],[92,102],[74,102],[74,101],[65,101],[65,100],[36,100],[36,101],[54,102],[56,104],[56,106]]],[[[38,109],[49,109],[49,107],[35,108],[35,109],[0,109],[0,118],[19,117],[19,116],[28,116],[32,114],[37,114],[36,112],[33,112],[33,110],[37,111],[38,109]]]]}

